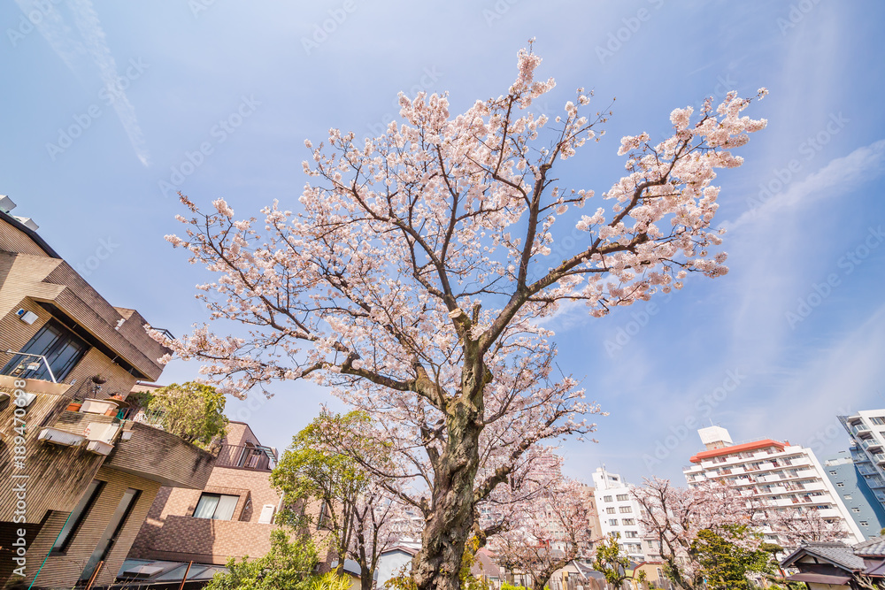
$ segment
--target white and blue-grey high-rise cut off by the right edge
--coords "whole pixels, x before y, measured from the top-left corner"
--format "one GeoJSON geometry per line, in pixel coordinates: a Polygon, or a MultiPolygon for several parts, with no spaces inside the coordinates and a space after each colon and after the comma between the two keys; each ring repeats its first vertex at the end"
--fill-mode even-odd
{"type": "Polygon", "coordinates": [[[852,445],[851,459],[876,502],[885,508],[885,409],[840,416],[852,445]]]}

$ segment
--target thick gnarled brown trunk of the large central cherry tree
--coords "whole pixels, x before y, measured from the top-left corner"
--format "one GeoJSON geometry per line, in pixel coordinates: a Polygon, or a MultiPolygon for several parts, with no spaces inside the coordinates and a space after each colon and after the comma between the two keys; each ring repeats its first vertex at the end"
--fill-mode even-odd
{"type": "Polygon", "coordinates": [[[421,534],[412,576],[418,590],[459,590],[458,572],[473,526],[473,479],[480,462],[482,432],[481,362],[465,369],[462,395],[446,412],[448,441],[436,464],[433,502],[421,534]]]}

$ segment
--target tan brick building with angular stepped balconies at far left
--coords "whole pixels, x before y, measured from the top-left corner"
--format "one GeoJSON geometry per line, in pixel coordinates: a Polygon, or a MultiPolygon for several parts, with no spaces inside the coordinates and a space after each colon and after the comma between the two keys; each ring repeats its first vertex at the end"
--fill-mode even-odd
{"type": "Polygon", "coordinates": [[[112,395],[158,379],[166,351],[12,206],[0,197],[0,586],[106,586],[158,490],[204,488],[214,457],[118,418],[112,395]]]}

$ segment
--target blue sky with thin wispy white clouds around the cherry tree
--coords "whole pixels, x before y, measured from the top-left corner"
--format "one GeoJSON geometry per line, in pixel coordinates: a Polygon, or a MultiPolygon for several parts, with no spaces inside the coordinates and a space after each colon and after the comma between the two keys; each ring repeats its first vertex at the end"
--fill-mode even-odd
{"type": "MultiPolygon", "coordinates": [[[[768,128],[718,179],[731,272],[551,323],[560,366],[610,412],[598,444],[566,442],[566,472],[681,481],[711,423],[823,459],[846,448],[837,414],[885,407],[881,22],[873,1],[17,0],[0,5],[0,194],[113,304],[181,334],[205,317],[203,276],[163,241],[180,231],[170,186],[243,216],[296,203],[305,138],[372,133],[400,90],[449,90],[453,112],[498,96],[529,37],[558,82],[550,111],[579,86],[617,97],[604,142],[562,171],[597,194],[622,174],[621,135],[766,86],[750,115],[768,128]]],[[[176,362],[164,381],[194,377],[176,362]]],[[[273,391],[228,408],[277,447],[330,402],[307,383],[273,391]]]]}

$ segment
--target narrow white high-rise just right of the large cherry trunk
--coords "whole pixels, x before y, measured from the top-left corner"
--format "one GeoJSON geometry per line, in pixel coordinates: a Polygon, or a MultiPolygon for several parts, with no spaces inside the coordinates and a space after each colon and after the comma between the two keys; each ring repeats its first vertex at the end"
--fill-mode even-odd
{"type": "Polygon", "coordinates": [[[621,550],[635,562],[645,561],[643,533],[639,525],[639,502],[631,494],[633,486],[620,475],[597,467],[593,474],[593,495],[604,536],[618,533],[621,550]]]}

